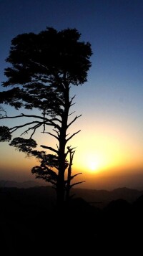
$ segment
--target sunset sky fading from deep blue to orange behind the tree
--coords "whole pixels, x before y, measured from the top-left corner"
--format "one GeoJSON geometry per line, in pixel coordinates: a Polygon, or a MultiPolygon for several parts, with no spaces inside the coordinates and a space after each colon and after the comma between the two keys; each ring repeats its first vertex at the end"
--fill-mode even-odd
{"type": "MultiPolygon", "coordinates": [[[[71,87],[76,95],[71,140],[77,147],[73,171],[80,187],[143,189],[143,1],[142,0],[0,0],[0,81],[11,39],[46,27],[76,28],[92,44],[87,82],[71,87]]],[[[0,90],[3,90],[0,87],[0,90]]],[[[12,108],[6,107],[9,115],[12,108]]],[[[6,123],[1,120],[0,125],[6,123]]],[[[7,124],[13,126],[11,120],[7,124]]],[[[45,141],[37,135],[37,141],[45,141]]],[[[52,144],[54,141],[49,142],[52,144]]],[[[0,179],[35,180],[34,158],[0,145],[0,179]]]]}

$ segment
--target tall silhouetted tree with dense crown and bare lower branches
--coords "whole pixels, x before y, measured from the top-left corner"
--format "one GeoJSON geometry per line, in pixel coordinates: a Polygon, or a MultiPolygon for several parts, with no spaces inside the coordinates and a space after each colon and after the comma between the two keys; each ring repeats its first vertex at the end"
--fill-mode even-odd
{"type": "Polygon", "coordinates": [[[70,136],[67,134],[69,126],[80,116],[68,120],[71,115],[69,110],[74,104],[74,97],[70,98],[69,95],[70,88],[71,85],[82,85],[86,82],[87,72],[91,67],[91,44],[79,42],[80,37],[77,29],[58,32],[49,27],[39,34],[19,34],[11,41],[9,57],[6,59],[11,67],[5,69],[7,80],[2,82],[3,87],[11,88],[0,93],[0,103],[8,104],[16,110],[37,110],[37,115],[21,113],[8,116],[1,109],[0,118],[3,120],[29,118],[30,121],[11,128],[1,126],[0,140],[10,141],[11,135],[20,128],[25,128],[21,135],[30,133],[28,139],[13,138],[10,146],[39,158],[41,165],[34,166],[31,172],[36,174],[36,178],[44,179],[55,186],[59,205],[69,199],[69,190],[75,185],[71,184],[71,179],[78,175],[71,175],[75,150],[66,143],[79,133],[77,131],[70,136]],[[41,148],[54,154],[34,149],[37,145],[33,136],[40,127],[43,127],[43,133],[50,134],[58,141],[56,148],[41,145],[41,148]],[[53,128],[53,133],[47,131],[48,127],[53,128]]]}

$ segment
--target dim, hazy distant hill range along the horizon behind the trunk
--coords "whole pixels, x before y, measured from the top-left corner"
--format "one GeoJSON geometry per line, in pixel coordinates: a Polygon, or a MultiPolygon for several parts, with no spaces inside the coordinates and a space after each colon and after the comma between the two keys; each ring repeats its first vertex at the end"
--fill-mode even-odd
{"type": "MultiPolygon", "coordinates": [[[[25,194],[40,195],[41,198],[48,196],[55,199],[55,191],[51,186],[41,185],[36,181],[0,181],[1,188],[17,188],[19,192],[24,189],[25,194]]],[[[114,189],[112,191],[96,190],[96,189],[71,189],[71,195],[75,198],[81,197],[85,201],[94,205],[94,207],[104,208],[109,202],[117,199],[124,199],[129,203],[135,202],[139,196],[143,195],[143,191],[137,189],[128,189],[126,187],[114,189]]]]}

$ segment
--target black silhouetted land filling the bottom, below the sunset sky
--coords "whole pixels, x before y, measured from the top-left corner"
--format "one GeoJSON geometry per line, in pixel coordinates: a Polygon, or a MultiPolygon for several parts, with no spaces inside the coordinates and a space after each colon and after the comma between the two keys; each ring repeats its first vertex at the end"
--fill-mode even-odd
{"type": "Polygon", "coordinates": [[[59,213],[51,186],[1,187],[1,245],[5,252],[44,255],[45,250],[54,253],[58,248],[58,255],[66,255],[70,248],[70,255],[102,255],[105,249],[129,252],[138,244],[137,252],[142,245],[143,191],[74,189],[73,194],[69,207],[59,213]]]}

